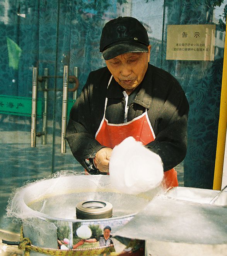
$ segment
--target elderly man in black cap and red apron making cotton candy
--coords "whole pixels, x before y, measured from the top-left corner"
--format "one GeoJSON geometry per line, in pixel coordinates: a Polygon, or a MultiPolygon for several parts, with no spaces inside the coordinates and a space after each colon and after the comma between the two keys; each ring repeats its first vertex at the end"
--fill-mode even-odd
{"type": "Polygon", "coordinates": [[[107,174],[114,146],[133,136],[161,157],[166,187],[178,186],[173,168],[186,155],[189,105],[178,81],[149,64],[150,49],[137,19],[106,23],[100,41],[106,67],[90,72],[70,112],[67,141],[88,173],[107,174]]]}

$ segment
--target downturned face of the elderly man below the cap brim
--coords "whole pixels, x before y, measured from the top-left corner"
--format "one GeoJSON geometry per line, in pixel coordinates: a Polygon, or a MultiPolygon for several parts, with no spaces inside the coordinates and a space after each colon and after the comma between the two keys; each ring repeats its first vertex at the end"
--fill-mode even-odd
{"type": "Polygon", "coordinates": [[[143,81],[150,61],[148,52],[129,52],[106,60],[106,66],[114,79],[122,86],[126,93],[131,93],[143,81]]]}

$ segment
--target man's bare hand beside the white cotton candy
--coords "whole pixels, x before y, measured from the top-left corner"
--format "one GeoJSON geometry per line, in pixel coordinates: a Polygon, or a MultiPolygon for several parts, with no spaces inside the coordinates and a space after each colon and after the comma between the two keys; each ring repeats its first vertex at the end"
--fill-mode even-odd
{"type": "Polygon", "coordinates": [[[96,168],[100,172],[109,172],[109,160],[112,154],[112,148],[101,148],[94,159],[96,168]]]}

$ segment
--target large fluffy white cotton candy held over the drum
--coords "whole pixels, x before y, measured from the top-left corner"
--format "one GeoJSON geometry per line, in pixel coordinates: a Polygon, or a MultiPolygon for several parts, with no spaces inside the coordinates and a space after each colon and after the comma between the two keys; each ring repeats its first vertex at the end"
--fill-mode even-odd
{"type": "Polygon", "coordinates": [[[159,155],[128,137],[114,147],[109,175],[112,186],[118,191],[139,194],[158,187],[164,172],[159,155]]]}

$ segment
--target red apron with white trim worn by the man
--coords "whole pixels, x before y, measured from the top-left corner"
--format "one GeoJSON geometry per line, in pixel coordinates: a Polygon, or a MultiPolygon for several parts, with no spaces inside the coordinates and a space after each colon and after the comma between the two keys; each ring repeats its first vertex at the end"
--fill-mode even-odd
{"type": "MultiPolygon", "coordinates": [[[[109,84],[112,77],[113,76],[111,76],[109,80],[109,84]]],[[[134,118],[130,122],[124,124],[109,124],[108,120],[105,118],[106,105],[107,98],[105,102],[104,116],[99,125],[99,129],[96,132],[96,140],[101,145],[108,148],[114,148],[114,146],[130,136],[134,137],[136,141],[141,141],[143,145],[147,145],[151,141],[154,141],[155,134],[147,115],[147,109],[142,115],[134,118]]],[[[174,168],[164,172],[162,185],[165,188],[178,186],[177,172],[174,168]]]]}

